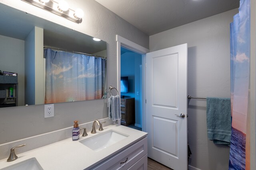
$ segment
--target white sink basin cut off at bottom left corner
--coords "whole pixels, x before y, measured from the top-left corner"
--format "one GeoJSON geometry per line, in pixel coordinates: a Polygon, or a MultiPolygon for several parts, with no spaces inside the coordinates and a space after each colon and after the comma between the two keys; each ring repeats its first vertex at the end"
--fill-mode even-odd
{"type": "Polygon", "coordinates": [[[1,170],[43,170],[36,158],[30,158],[1,170]]]}

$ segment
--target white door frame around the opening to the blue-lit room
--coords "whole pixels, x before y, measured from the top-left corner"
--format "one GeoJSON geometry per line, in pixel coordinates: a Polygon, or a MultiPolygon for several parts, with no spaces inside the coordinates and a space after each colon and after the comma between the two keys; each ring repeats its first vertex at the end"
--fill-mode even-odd
{"type": "Polygon", "coordinates": [[[120,77],[121,77],[121,46],[139,53],[142,55],[142,131],[145,131],[145,64],[146,64],[146,53],[149,53],[149,49],[142,47],[128,39],[121,37],[120,35],[116,35],[116,42],[117,42],[117,89],[120,92],[120,77]]]}

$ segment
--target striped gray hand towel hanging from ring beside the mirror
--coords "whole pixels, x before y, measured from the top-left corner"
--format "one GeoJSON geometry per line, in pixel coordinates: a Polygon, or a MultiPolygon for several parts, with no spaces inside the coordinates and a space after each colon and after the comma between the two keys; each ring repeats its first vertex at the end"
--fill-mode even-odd
{"type": "Polygon", "coordinates": [[[108,118],[113,121],[121,119],[120,97],[118,95],[110,96],[108,118]]]}

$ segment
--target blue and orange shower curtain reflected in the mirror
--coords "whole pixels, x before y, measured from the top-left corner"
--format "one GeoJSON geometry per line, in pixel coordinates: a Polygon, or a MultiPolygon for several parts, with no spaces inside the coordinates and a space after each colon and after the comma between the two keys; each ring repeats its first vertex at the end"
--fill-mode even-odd
{"type": "Polygon", "coordinates": [[[44,49],[45,104],[102,98],[106,59],[44,49]]]}

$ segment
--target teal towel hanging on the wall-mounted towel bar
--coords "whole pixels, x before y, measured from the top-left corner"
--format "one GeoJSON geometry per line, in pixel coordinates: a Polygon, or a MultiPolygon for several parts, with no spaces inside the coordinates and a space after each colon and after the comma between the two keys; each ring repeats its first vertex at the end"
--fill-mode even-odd
{"type": "Polygon", "coordinates": [[[230,145],[230,98],[206,98],[206,101],[208,139],[214,144],[230,145]]]}

